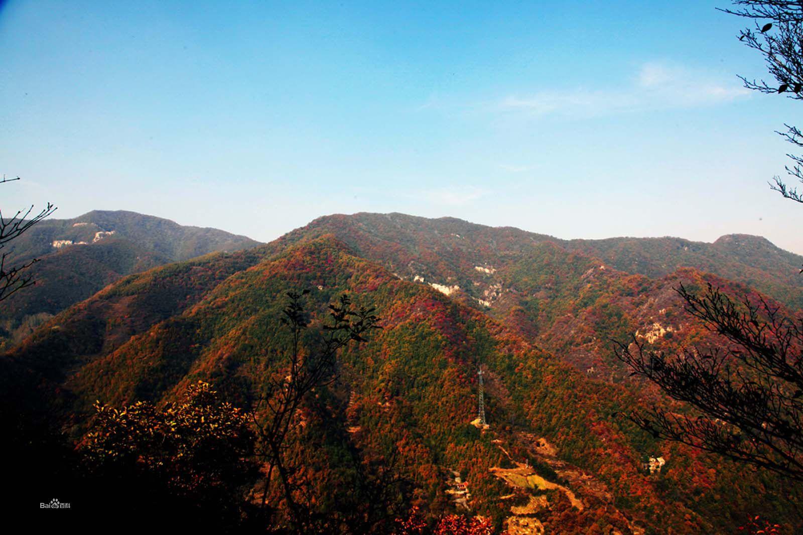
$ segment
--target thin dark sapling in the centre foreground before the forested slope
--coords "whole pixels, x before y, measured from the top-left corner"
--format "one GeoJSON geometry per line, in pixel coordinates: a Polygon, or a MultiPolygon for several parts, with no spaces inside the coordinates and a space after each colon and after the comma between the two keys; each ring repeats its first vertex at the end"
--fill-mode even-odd
{"type": "Polygon", "coordinates": [[[283,309],[281,321],[291,331],[292,341],[287,352],[280,379],[268,382],[267,392],[255,405],[251,417],[259,434],[258,455],[267,461],[268,469],[263,490],[263,506],[271,488],[274,471],[278,474],[283,499],[287,508],[290,528],[295,532],[310,529],[309,511],[296,500],[300,489],[297,468],[286,459],[287,436],[298,425],[300,407],[309,394],[328,386],[336,378],[336,355],[349,342],[365,341],[365,336],[377,325],[379,318],[373,308],[353,308],[349,296],[340,296],[336,304],[329,305],[329,323],[323,327],[320,345],[304,348],[302,334],[308,328],[310,317],[302,303],[309,293],[288,292],[289,302],[283,309]],[[264,410],[263,410],[264,409],[264,410]]]}

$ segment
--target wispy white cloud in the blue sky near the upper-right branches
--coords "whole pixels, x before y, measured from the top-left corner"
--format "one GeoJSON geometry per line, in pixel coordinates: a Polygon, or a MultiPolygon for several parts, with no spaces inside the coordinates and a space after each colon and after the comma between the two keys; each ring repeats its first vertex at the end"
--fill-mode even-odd
{"type": "Polygon", "coordinates": [[[618,88],[541,90],[528,96],[507,96],[495,108],[533,116],[585,117],[709,106],[749,93],[736,81],[725,83],[704,72],[665,63],[645,63],[629,83],[618,88]]]}

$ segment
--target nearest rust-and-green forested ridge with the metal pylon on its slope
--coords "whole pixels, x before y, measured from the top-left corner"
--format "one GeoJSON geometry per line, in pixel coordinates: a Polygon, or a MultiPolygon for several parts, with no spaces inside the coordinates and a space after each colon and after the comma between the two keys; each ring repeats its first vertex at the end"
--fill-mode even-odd
{"type": "MultiPolygon", "coordinates": [[[[503,325],[488,317],[488,310],[467,306],[467,300],[462,304],[454,299],[456,292],[446,296],[442,288],[402,280],[335,235],[291,241],[125,277],[38,329],[6,356],[3,366],[11,366],[13,374],[3,377],[27,375],[37,385],[45,378],[78,415],[73,432],[79,432],[96,399],[167,402],[198,378],[248,406],[264,379],[281,370],[288,333],[278,318],[285,292],[312,291],[310,336],[326,304],[349,292],[357,302],[377,307],[383,329],[367,345],[342,353],[337,382],[316,396],[320,403],[304,408],[304,425],[296,429],[291,451],[315,474],[315,496],[353,488],[350,478],[357,472],[349,459],[380,462],[396,451],[393,469],[412,488],[406,503],[433,515],[456,507],[444,483],[456,470],[470,485],[472,514],[500,522],[512,507],[546,492],[548,508],[533,514],[560,533],[603,533],[610,527],[663,533],[666,526],[675,533],[715,533],[735,529],[745,511],[796,522],[769,496],[797,496],[797,489],[712,455],[656,442],[621,416],[642,403],[637,393],[589,381],[565,366],[563,355],[538,349],[509,321],[503,325]],[[488,374],[491,422],[484,432],[468,424],[476,414],[480,364],[488,374]],[[556,451],[542,446],[542,439],[556,451]],[[666,458],[666,469],[650,475],[642,463],[658,454],[666,458]],[[523,461],[530,472],[539,467],[532,480],[540,483],[532,488],[510,488],[505,477],[494,475],[524,470],[515,464],[523,461]]],[[[529,252],[544,255],[539,265],[556,270],[564,269],[562,258],[568,255],[574,271],[566,279],[574,282],[572,274],[588,272],[580,260],[591,261],[552,244],[529,252]]],[[[516,261],[526,269],[533,258],[516,261]]],[[[516,262],[509,269],[516,273],[516,262]]],[[[593,272],[586,280],[591,276],[598,276],[601,288],[613,284],[608,276],[615,284],[635,280],[634,293],[653,284],[615,270],[593,272]]],[[[524,275],[520,278],[524,284],[524,275]]],[[[593,281],[583,287],[588,284],[594,287],[593,281]]],[[[553,286],[574,291],[568,283],[553,286]]],[[[560,304],[560,294],[550,301],[560,304]]],[[[552,313],[560,316],[557,310],[552,313]]],[[[515,475],[510,480],[516,481],[515,475]]],[[[259,496],[259,488],[255,492],[259,496]]],[[[347,501],[324,500],[316,507],[336,515],[339,507],[358,505],[347,501]]]]}

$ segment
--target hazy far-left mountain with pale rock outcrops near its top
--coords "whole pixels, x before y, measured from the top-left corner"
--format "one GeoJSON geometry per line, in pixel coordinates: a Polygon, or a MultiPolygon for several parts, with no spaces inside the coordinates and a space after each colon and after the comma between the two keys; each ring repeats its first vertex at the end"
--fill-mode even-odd
{"type": "Polygon", "coordinates": [[[245,236],[123,210],[45,219],[4,250],[10,264],[31,258],[39,262],[29,268],[35,286],[10,296],[0,308],[0,341],[10,345],[22,340],[48,317],[121,276],[258,244],[245,236]]]}

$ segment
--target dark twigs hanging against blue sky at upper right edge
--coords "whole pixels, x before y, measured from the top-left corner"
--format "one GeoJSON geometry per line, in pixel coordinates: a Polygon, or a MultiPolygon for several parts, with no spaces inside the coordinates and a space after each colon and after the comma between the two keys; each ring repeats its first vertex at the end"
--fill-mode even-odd
{"type": "MultiPolygon", "coordinates": [[[[734,9],[722,11],[753,20],[754,27],[741,31],[739,39],[764,56],[767,71],[772,76],[769,82],[740,76],[744,87],[803,100],[803,2],[734,0],[733,4],[734,9]]],[[[801,130],[794,125],[784,126],[786,130],[778,133],[796,147],[803,147],[801,130]]],[[[787,156],[793,161],[792,165],[786,166],[787,174],[803,182],[803,156],[787,156]]],[[[770,187],[785,198],[803,202],[803,192],[788,186],[781,177],[773,177],[770,187]]]]}

